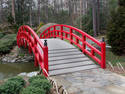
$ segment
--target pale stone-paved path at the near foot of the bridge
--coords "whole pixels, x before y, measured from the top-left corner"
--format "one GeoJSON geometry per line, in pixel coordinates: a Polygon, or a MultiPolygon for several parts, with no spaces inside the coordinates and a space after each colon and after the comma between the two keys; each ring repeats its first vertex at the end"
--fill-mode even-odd
{"type": "Polygon", "coordinates": [[[54,78],[66,87],[69,94],[125,94],[125,77],[101,68],[56,75],[54,78]]]}

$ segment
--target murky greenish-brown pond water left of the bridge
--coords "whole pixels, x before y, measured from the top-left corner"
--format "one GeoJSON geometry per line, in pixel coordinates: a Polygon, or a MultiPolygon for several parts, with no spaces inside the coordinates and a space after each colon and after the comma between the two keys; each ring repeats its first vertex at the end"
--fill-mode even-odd
{"type": "Polygon", "coordinates": [[[37,70],[38,68],[34,67],[33,62],[0,64],[0,80],[16,76],[22,72],[32,72],[37,70]]]}

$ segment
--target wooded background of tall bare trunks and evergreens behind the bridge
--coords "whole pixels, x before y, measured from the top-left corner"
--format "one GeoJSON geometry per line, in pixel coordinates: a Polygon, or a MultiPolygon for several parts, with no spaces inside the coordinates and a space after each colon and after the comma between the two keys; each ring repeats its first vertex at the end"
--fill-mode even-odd
{"type": "Polygon", "coordinates": [[[0,24],[68,24],[97,36],[105,33],[118,0],[0,0],[0,24]]]}

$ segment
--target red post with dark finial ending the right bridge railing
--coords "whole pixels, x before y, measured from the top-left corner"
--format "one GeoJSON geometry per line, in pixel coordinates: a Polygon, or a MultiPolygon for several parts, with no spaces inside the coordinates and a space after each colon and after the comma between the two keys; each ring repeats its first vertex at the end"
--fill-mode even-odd
{"type": "Polygon", "coordinates": [[[106,68],[106,49],[105,49],[105,39],[104,37],[102,38],[102,43],[101,43],[101,52],[102,52],[102,55],[101,55],[101,68],[105,69],[106,68]]]}

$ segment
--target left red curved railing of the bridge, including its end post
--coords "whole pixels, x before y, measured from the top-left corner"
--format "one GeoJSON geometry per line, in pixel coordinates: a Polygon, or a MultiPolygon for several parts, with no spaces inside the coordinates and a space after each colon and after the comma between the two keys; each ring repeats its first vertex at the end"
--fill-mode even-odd
{"type": "Polygon", "coordinates": [[[48,72],[48,47],[40,41],[38,35],[29,26],[23,25],[19,28],[17,45],[18,47],[28,47],[29,53],[33,52],[35,58],[34,65],[40,65],[41,69],[43,69],[43,74],[47,77],[44,70],[48,72]]]}

